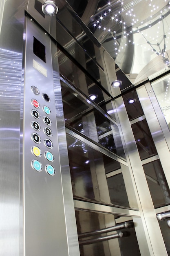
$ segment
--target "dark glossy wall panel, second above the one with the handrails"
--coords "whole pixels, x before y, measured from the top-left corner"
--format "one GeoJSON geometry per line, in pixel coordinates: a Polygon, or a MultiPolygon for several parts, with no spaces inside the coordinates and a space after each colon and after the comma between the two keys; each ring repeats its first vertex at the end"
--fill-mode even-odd
{"type": "Polygon", "coordinates": [[[66,124],[125,158],[117,125],[107,119],[85,99],[69,88],[63,81],[62,99],[66,124]]]}

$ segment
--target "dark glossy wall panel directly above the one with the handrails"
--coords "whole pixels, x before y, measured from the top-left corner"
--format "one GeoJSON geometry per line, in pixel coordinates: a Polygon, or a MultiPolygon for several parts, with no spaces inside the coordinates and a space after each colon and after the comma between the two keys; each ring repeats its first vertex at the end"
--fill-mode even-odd
{"type": "Polygon", "coordinates": [[[68,158],[74,198],[121,207],[129,207],[120,164],[67,135],[68,158]],[[120,170],[106,178],[106,173],[120,170]]]}

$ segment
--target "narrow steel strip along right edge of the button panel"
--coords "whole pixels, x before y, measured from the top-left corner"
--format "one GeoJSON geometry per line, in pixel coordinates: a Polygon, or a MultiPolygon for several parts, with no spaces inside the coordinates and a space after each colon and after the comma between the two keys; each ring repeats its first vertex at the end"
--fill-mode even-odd
{"type": "Polygon", "coordinates": [[[77,226],[75,220],[75,209],[73,202],[73,191],[71,186],[71,175],[68,162],[68,151],[66,143],[66,130],[64,124],[64,112],[62,103],[62,92],[60,84],[60,74],[57,58],[56,44],[51,41],[51,54],[53,65],[53,81],[54,81],[54,97],[55,97],[55,111],[57,120],[58,132],[58,147],[60,154],[60,166],[62,177],[62,190],[64,198],[64,213],[67,230],[68,250],[69,256],[79,256],[79,244],[77,237],[77,226]]]}

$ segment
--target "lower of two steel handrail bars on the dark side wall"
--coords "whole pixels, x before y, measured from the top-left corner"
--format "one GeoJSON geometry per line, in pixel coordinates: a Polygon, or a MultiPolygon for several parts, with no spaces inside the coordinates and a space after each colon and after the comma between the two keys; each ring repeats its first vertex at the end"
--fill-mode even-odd
{"type": "Polygon", "coordinates": [[[94,239],[88,239],[88,240],[84,240],[84,241],[79,241],[79,245],[90,245],[93,243],[98,243],[98,242],[103,242],[103,241],[108,241],[110,239],[114,239],[114,238],[121,238],[123,236],[129,236],[130,233],[129,232],[119,232],[118,234],[113,234],[110,236],[102,236],[102,237],[98,237],[98,238],[94,238],[94,239]]]}

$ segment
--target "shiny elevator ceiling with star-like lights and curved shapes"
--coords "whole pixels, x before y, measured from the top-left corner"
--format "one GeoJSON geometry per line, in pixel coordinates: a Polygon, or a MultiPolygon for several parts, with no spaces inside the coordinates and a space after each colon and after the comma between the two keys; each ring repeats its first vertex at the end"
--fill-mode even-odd
{"type": "Polygon", "coordinates": [[[168,0],[67,0],[132,82],[169,68],[168,0]]]}

